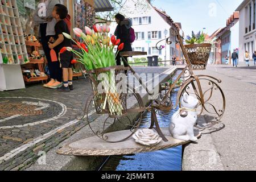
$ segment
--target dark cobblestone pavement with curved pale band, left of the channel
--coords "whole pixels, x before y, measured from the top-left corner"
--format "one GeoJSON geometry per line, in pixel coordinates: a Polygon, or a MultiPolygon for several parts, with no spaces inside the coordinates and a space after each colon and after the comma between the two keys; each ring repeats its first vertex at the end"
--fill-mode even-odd
{"type": "MultiPolygon", "coordinates": [[[[8,159],[15,153],[15,148],[24,146],[81,116],[86,98],[92,93],[91,87],[89,81],[84,79],[74,81],[74,86],[75,90],[70,93],[43,88],[42,84],[28,85],[23,90],[0,92],[0,159],[8,159]]],[[[73,130],[78,130],[82,125],[82,121],[77,122],[73,130]]],[[[59,131],[59,138],[48,138],[49,143],[41,146],[40,143],[35,144],[32,146],[32,153],[36,155],[36,151],[48,150],[71,133],[72,131],[66,131],[66,135],[61,136],[59,131]]],[[[30,159],[33,156],[30,153],[31,151],[24,155],[25,158],[30,159]]],[[[5,163],[0,160],[0,169],[19,166],[24,158],[18,155],[22,155],[22,152],[14,156],[13,164],[10,160],[5,163]]]]}

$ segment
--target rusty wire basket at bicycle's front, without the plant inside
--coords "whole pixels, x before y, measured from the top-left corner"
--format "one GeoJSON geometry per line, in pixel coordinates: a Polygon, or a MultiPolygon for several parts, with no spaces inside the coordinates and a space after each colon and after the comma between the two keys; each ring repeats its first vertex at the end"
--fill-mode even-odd
{"type": "Polygon", "coordinates": [[[193,70],[204,70],[207,68],[212,44],[188,44],[184,47],[193,70]]]}

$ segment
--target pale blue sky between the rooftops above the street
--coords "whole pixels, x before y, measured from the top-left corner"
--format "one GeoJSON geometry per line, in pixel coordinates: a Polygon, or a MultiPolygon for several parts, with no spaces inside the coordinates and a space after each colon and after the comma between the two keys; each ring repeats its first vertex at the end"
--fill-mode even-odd
{"type": "Polygon", "coordinates": [[[211,35],[226,26],[226,20],[243,0],[154,0],[152,5],[165,10],[174,22],[181,22],[185,35],[204,30],[211,35]]]}

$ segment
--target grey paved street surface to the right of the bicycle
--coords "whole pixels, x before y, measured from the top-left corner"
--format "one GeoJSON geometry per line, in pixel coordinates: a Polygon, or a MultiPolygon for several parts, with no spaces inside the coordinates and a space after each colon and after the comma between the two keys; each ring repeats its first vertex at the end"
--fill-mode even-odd
{"type": "MultiPolygon", "coordinates": [[[[191,155],[184,155],[184,170],[256,169],[255,71],[256,67],[243,67],[243,65],[238,68],[208,65],[206,71],[195,72],[222,80],[220,86],[226,97],[226,110],[222,118],[225,127],[215,133],[203,134],[199,144],[190,144],[185,148],[185,153],[188,154],[190,151],[191,155]],[[209,147],[205,147],[207,144],[209,147]],[[204,158],[207,159],[203,160],[204,162],[209,162],[208,164],[212,165],[202,163],[204,158]],[[192,161],[193,163],[191,163],[192,161]]],[[[215,101],[218,102],[218,98],[215,98],[215,101]]],[[[216,127],[221,127],[221,124],[216,127]]]]}

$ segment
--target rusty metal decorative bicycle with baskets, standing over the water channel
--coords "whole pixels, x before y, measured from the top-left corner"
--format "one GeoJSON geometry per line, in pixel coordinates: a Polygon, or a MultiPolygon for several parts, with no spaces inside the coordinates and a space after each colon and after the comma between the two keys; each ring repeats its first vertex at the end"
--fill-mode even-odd
{"type": "MultiPolygon", "coordinates": [[[[118,81],[114,81],[114,84],[110,84],[108,92],[101,93],[98,90],[101,88],[100,84],[102,84],[102,80],[98,81],[98,77],[101,73],[110,74],[110,72],[113,72],[113,75],[117,77],[120,73],[127,76],[131,72],[147,93],[152,96],[153,93],[151,93],[143,83],[142,78],[137,76],[134,69],[130,67],[129,63],[127,63],[125,59],[125,57],[147,55],[147,52],[120,53],[123,62],[128,65],[128,67],[116,66],[111,68],[95,69],[88,72],[93,94],[86,102],[85,114],[88,125],[95,135],[110,143],[122,142],[129,139],[141,125],[144,111],[148,110],[151,111],[150,129],[155,129],[160,137],[167,142],[168,140],[164,137],[164,134],[160,129],[158,119],[156,118],[156,111],[170,111],[171,109],[176,108],[177,105],[181,108],[180,100],[184,93],[193,95],[199,100],[200,105],[197,107],[199,116],[203,114],[203,111],[207,111],[208,114],[213,115],[212,118],[209,118],[212,120],[210,123],[204,126],[200,126],[199,123],[196,127],[206,129],[221,122],[221,118],[225,112],[224,92],[220,86],[218,86],[218,84],[221,83],[221,80],[212,76],[195,75],[193,73],[195,70],[206,69],[212,45],[195,44],[184,46],[183,38],[181,38],[179,32],[173,28],[171,28],[171,36],[164,40],[166,40],[167,44],[171,44],[172,42],[170,39],[174,36],[177,38],[176,43],[180,44],[187,66],[183,69],[180,75],[177,76],[173,84],[170,85],[170,88],[166,90],[167,92],[165,92],[164,95],[160,94],[162,97],[159,97],[159,99],[152,100],[151,105],[148,107],[144,106],[142,97],[136,92],[135,88],[131,87],[129,84],[127,84],[126,92],[122,93],[118,93],[117,90],[115,90],[115,86],[119,83],[118,81]],[[179,92],[177,93],[176,104],[173,105],[170,99],[170,94],[175,88],[176,82],[179,81],[180,78],[184,78],[185,81],[180,86],[179,92]],[[206,82],[209,88],[205,88],[205,85],[203,87],[203,82],[206,82]],[[214,98],[218,98],[218,100],[213,100],[213,96],[214,98]],[[127,100],[130,101],[130,105],[127,104],[127,100]],[[100,122],[101,125],[98,125],[98,122],[100,122]],[[129,127],[130,133],[128,135],[126,134],[123,138],[118,139],[109,137],[108,133],[123,128],[123,126],[125,126],[125,128],[129,127]]],[[[162,41],[163,40],[160,42],[162,41]]],[[[156,48],[163,48],[163,46],[158,47],[157,45],[158,44],[156,44],[156,48]]],[[[125,81],[125,79],[123,81],[125,81]]],[[[182,109],[185,110],[185,108],[181,108],[181,110],[182,109]]]]}

